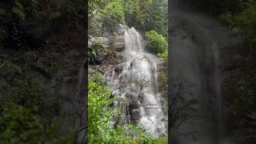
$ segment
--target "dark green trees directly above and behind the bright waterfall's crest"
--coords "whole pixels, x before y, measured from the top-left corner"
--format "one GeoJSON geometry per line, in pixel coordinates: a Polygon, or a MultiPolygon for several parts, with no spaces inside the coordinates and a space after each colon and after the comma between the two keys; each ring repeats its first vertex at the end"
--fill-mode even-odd
{"type": "Polygon", "coordinates": [[[167,36],[166,0],[123,0],[126,25],[167,36]]]}

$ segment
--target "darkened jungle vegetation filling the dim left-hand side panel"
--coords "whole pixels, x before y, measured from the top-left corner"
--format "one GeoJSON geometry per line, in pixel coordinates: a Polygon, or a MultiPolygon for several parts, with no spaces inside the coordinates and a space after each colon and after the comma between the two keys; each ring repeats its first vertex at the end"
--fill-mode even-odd
{"type": "Polygon", "coordinates": [[[44,82],[54,78],[60,63],[46,58],[48,66],[39,68],[37,62],[53,56],[47,52],[63,53],[68,42],[84,50],[85,27],[82,0],[0,2],[0,143],[78,140],[82,126],[63,133],[62,101],[49,94],[50,86],[44,82]]]}

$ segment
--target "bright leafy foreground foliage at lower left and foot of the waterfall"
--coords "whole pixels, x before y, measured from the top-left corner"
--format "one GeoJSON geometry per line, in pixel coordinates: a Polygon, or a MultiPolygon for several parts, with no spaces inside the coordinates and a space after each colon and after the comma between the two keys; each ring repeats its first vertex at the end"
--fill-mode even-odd
{"type": "Polygon", "coordinates": [[[114,99],[110,91],[102,86],[100,75],[90,79],[88,91],[88,140],[89,143],[151,143],[154,138],[141,126],[111,125],[111,119],[117,114],[116,109],[110,108],[114,99]]]}

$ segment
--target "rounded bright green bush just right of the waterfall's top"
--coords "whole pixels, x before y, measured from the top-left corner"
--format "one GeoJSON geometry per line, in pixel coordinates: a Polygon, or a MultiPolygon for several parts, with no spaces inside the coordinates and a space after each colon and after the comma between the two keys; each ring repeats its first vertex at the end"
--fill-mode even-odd
{"type": "Polygon", "coordinates": [[[146,32],[146,48],[154,54],[162,54],[167,50],[167,41],[162,34],[158,34],[155,30],[146,32]]]}

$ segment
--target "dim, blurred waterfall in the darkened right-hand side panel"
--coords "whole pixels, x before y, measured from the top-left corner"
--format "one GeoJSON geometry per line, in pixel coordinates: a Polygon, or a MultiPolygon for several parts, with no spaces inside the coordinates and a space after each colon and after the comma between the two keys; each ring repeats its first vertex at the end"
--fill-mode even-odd
{"type": "Polygon", "coordinates": [[[234,144],[224,135],[222,75],[218,70],[222,63],[218,51],[229,39],[228,29],[186,1],[172,2],[170,74],[179,80],[179,96],[191,102],[193,110],[176,130],[170,130],[177,141],[172,143],[234,144]]]}

